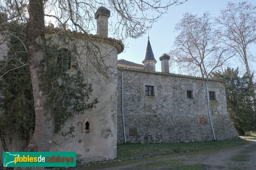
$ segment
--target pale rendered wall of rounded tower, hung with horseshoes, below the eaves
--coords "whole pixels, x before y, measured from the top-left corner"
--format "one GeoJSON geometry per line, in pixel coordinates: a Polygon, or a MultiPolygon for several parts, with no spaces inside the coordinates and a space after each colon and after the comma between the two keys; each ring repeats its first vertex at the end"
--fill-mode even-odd
{"type": "MultiPolygon", "coordinates": [[[[82,41],[81,44],[83,44],[82,41]]],[[[113,73],[116,74],[117,50],[104,43],[98,45],[101,48],[101,54],[108,54],[105,64],[111,66],[113,73]]],[[[86,64],[85,56],[80,57],[81,65],[86,64]]],[[[75,74],[75,69],[71,73],[75,74]]],[[[69,119],[60,133],[54,135],[51,151],[76,152],[76,159],[82,162],[114,159],[117,144],[117,79],[107,84],[102,75],[92,75],[88,72],[85,75],[93,85],[91,99],[98,98],[99,103],[92,111],[86,111],[83,115],[75,115],[69,119]],[[91,122],[90,131],[83,132],[82,124],[87,118],[91,122]],[[71,126],[74,126],[75,132],[67,134],[71,126]]]]}

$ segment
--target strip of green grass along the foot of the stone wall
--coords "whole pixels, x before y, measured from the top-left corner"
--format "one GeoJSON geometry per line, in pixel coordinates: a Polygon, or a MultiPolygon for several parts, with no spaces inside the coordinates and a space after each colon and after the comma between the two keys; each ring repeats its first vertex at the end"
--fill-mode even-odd
{"type": "Polygon", "coordinates": [[[210,152],[248,143],[244,139],[232,139],[210,142],[161,143],[161,144],[121,144],[117,145],[115,160],[124,160],[141,156],[165,155],[180,152],[210,152]]]}

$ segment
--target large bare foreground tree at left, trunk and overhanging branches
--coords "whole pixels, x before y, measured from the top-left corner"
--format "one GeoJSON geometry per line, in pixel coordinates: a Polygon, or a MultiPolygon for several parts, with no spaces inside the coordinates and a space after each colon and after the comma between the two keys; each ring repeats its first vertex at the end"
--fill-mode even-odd
{"type": "MultiPolygon", "coordinates": [[[[8,15],[8,18],[0,21],[2,34],[12,34],[6,27],[2,27],[2,23],[6,21],[17,24],[27,23],[28,63],[23,63],[23,65],[28,64],[30,69],[36,127],[26,151],[49,151],[54,132],[54,108],[52,105],[54,101],[49,96],[49,93],[52,92],[52,82],[46,76],[44,16],[54,20],[59,28],[56,35],[65,35],[70,41],[75,41],[76,38],[72,36],[74,32],[70,30],[74,30],[76,33],[81,32],[85,44],[83,44],[84,50],[80,49],[79,51],[85,51],[85,54],[92,58],[91,64],[84,65],[85,70],[96,71],[100,74],[108,72],[104,75],[107,78],[112,73],[111,69],[103,63],[108,54],[101,54],[102,47],[99,47],[98,43],[93,44],[92,35],[89,34],[97,25],[94,20],[94,12],[97,8],[106,6],[113,9],[118,18],[118,23],[112,27],[112,34],[116,38],[137,38],[146,33],[152,23],[156,22],[163,13],[166,13],[169,6],[182,4],[184,1],[186,0],[169,1],[162,6],[163,1],[160,0],[153,0],[151,3],[143,0],[1,0],[0,10],[8,15]],[[155,11],[156,17],[149,17],[148,11],[155,11]],[[95,67],[96,70],[92,69],[92,65],[97,66],[95,67]]],[[[102,38],[102,41],[105,39],[102,38]]]]}

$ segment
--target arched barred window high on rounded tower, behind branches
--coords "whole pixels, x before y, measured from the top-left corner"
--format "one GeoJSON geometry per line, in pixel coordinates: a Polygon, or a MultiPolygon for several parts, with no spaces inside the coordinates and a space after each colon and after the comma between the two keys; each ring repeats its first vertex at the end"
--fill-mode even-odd
{"type": "Polygon", "coordinates": [[[71,69],[71,53],[66,48],[61,48],[58,51],[58,64],[60,66],[71,69]]]}

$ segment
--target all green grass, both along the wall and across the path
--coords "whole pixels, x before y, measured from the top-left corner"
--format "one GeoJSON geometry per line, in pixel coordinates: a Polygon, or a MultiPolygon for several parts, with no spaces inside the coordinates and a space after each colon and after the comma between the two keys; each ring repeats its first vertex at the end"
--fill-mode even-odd
{"type": "MultiPolygon", "coordinates": [[[[203,164],[188,164],[184,160],[171,160],[172,157],[176,157],[177,154],[171,153],[180,153],[187,152],[198,154],[212,152],[220,149],[227,149],[233,146],[246,144],[248,141],[244,139],[233,139],[233,140],[223,140],[217,142],[190,142],[190,143],[162,143],[162,144],[122,144],[117,146],[117,158],[115,160],[124,160],[127,161],[116,161],[108,162],[105,164],[97,164],[93,166],[84,167],[85,169],[100,169],[100,168],[114,168],[118,167],[120,169],[175,169],[175,170],[203,170],[205,165],[203,164]],[[161,155],[156,157],[146,157],[143,159],[134,159],[141,156],[148,155],[161,155]]],[[[248,149],[254,149],[248,148],[248,149]]],[[[242,154],[242,153],[241,153],[242,154]]]]}

